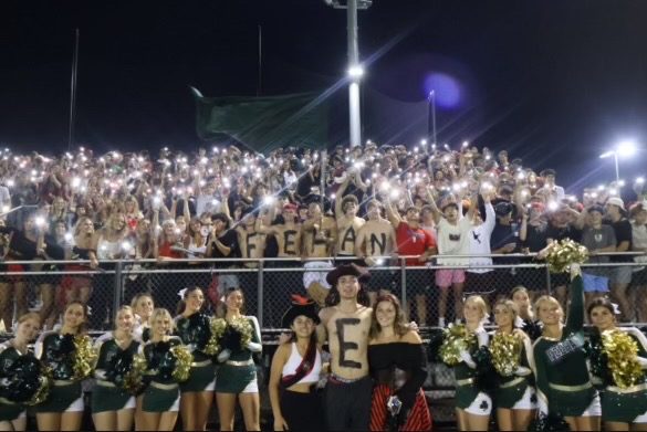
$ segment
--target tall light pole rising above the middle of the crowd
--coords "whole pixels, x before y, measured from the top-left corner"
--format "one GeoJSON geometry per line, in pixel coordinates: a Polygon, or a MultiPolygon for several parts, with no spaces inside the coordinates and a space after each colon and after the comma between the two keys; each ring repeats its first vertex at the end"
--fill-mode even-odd
{"type": "Polygon", "coordinates": [[[324,0],[326,4],[335,9],[346,9],[347,50],[348,50],[348,122],[351,131],[351,147],[362,144],[362,110],[359,104],[359,82],[364,75],[364,69],[359,63],[359,45],[357,35],[357,11],[368,9],[373,0],[324,0]]]}

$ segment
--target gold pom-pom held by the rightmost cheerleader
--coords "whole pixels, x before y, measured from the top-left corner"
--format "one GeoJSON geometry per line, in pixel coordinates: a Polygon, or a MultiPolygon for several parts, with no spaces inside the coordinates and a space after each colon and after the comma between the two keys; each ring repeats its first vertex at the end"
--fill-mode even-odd
{"type": "Polygon", "coordinates": [[[626,389],[645,381],[637,359],[638,344],[629,335],[617,329],[603,331],[602,346],[617,387],[626,389]]]}

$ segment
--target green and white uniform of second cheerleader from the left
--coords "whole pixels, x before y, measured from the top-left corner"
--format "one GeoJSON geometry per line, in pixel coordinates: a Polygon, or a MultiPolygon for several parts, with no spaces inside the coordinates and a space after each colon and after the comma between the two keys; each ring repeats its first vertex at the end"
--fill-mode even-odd
{"type": "Polygon", "coordinates": [[[36,405],[36,412],[83,412],[81,381],[74,380],[74,344],[72,335],[44,331],[35,344],[35,356],[52,370],[52,387],[48,399],[36,405]]]}

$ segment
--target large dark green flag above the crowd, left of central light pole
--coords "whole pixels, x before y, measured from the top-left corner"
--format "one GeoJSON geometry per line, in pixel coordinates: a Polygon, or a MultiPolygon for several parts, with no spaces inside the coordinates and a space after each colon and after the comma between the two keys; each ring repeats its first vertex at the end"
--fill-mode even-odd
{"type": "Polygon", "coordinates": [[[197,131],[205,140],[223,136],[259,152],[280,147],[325,148],[328,103],[317,93],[261,97],[205,97],[191,87],[197,131]]]}

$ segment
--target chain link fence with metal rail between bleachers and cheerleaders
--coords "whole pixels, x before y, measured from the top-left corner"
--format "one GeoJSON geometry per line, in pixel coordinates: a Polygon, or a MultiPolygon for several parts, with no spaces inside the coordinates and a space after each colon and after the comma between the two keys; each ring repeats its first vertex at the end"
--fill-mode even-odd
{"type": "MultiPolygon", "coordinates": [[[[507,260],[510,260],[508,256],[507,260]]],[[[479,294],[488,304],[509,298],[512,289],[524,286],[536,297],[566,296],[566,274],[549,272],[545,263],[520,255],[510,264],[486,266],[406,265],[406,257],[387,259],[385,265],[368,267],[371,281],[364,286],[372,298],[390,292],[400,298],[409,317],[420,327],[435,327],[461,317],[466,296],[479,294]],[[441,287],[446,285],[446,287],[441,287]]],[[[336,264],[343,261],[337,260],[336,264]]],[[[0,318],[11,322],[29,309],[41,314],[49,327],[59,319],[66,303],[79,299],[92,310],[93,330],[111,328],[116,307],[131,304],[138,293],[150,293],[156,307],[175,314],[178,292],[199,286],[205,292],[207,310],[223,312],[229,288],[241,288],[246,313],[255,315],[263,330],[281,328],[281,317],[290,306],[291,295],[307,296],[312,285],[320,285],[324,296],[325,276],[333,261],[294,260],[177,260],[102,262],[92,270],[85,262],[3,262],[0,263],[0,318]]],[[[647,322],[647,268],[640,263],[583,264],[587,298],[612,295],[623,310],[625,322],[647,322]],[[589,277],[591,276],[591,277],[589,277]],[[595,277],[593,277],[595,276],[595,277]],[[619,285],[619,289],[618,289],[619,285]]],[[[322,292],[320,289],[320,292],[322,292]]],[[[4,324],[6,330],[11,326],[4,324]]]]}

